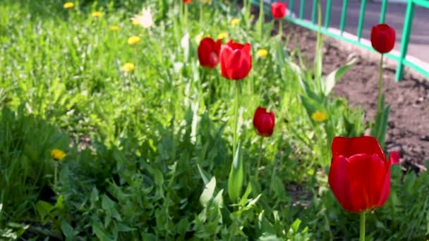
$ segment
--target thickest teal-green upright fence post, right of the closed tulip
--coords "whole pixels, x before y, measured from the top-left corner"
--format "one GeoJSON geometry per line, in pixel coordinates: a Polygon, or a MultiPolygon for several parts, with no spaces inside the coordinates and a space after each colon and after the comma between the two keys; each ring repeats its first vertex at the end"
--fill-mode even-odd
{"type": "Polygon", "coordinates": [[[402,30],[403,32],[402,32],[402,39],[401,39],[402,40],[401,54],[399,56],[397,73],[394,78],[394,80],[397,82],[401,80],[404,75],[404,59],[406,58],[406,51],[408,51],[411,27],[413,25],[413,18],[414,18],[414,8],[415,8],[414,2],[412,0],[409,0],[408,5],[406,6],[404,28],[402,30]]]}

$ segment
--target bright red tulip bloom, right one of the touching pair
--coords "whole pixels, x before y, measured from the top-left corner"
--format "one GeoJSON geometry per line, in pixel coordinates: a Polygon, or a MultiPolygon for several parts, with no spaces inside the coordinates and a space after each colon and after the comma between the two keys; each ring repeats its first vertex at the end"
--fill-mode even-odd
{"type": "Polygon", "coordinates": [[[250,44],[238,44],[230,40],[222,45],[220,51],[220,68],[224,78],[230,80],[243,80],[252,68],[250,44]]]}

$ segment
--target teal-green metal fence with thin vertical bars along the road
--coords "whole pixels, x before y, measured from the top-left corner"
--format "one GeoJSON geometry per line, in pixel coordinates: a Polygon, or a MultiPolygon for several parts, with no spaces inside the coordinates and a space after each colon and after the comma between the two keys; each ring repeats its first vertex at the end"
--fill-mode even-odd
{"type": "MultiPolygon", "coordinates": [[[[332,0],[326,1],[325,23],[323,23],[321,27],[318,26],[316,22],[318,1],[319,0],[313,0],[313,1],[301,0],[298,16],[294,17],[289,15],[289,16],[286,16],[285,19],[291,23],[295,23],[296,25],[301,25],[310,30],[322,32],[323,34],[328,35],[330,37],[342,39],[345,42],[349,42],[363,49],[374,51],[373,47],[370,44],[368,44],[368,42],[361,41],[363,23],[365,20],[365,8],[367,3],[366,0],[361,0],[361,10],[359,12],[356,37],[351,37],[352,35],[344,35],[344,29],[346,27],[346,19],[347,19],[347,6],[349,5],[349,0],[342,1],[342,13],[341,13],[341,20],[339,24],[339,32],[332,31],[332,29],[330,29],[332,0]],[[313,4],[311,8],[311,18],[310,20],[306,20],[304,19],[304,13],[306,9],[306,3],[309,3],[309,2],[313,4]]],[[[414,10],[416,6],[429,8],[429,1],[428,0],[403,0],[403,1],[404,3],[407,4],[407,6],[406,6],[405,19],[404,19],[404,27],[402,29],[400,51],[399,51],[399,54],[389,53],[389,54],[385,54],[385,56],[397,62],[397,70],[396,70],[396,76],[395,76],[396,81],[400,81],[403,78],[405,66],[412,68],[413,70],[416,70],[416,72],[421,73],[425,77],[429,77],[428,69],[425,69],[423,66],[418,65],[418,63],[409,61],[406,58],[406,53],[408,51],[408,46],[409,46],[409,39],[411,35],[411,26],[413,25],[414,10]]],[[[252,0],[252,3],[259,6],[260,0],[252,0]]],[[[338,1],[336,1],[336,3],[338,3],[338,1]]],[[[294,4],[296,4],[296,1],[289,0],[289,9],[294,9],[294,4]]],[[[385,23],[387,5],[388,5],[388,0],[382,0],[382,5],[380,9],[380,23],[385,23]]],[[[269,4],[265,3],[265,8],[267,8],[267,11],[269,11],[270,10],[269,4]]]]}

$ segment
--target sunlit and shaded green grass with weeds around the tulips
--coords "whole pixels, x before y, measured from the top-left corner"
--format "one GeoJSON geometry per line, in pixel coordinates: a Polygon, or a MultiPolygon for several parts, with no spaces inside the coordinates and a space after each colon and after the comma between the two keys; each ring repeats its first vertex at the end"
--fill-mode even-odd
{"type": "MultiPolygon", "coordinates": [[[[131,24],[138,2],[81,1],[67,11],[61,1],[1,1],[0,237],[357,237],[358,216],[334,199],[327,168],[330,140],[362,135],[363,111],[326,92],[313,70],[294,63],[299,49],[286,50],[270,36],[272,23],[253,25],[248,11],[213,1],[200,16],[194,1],[184,25],[180,1],[145,1],[157,9],[155,25],[145,30],[131,24]],[[92,18],[92,11],[103,16],[92,18]],[[241,19],[238,26],[233,18],[241,19]],[[220,32],[252,44],[253,68],[241,82],[199,66],[195,37],[220,32]],[[133,35],[142,40],[130,46],[133,35]],[[260,48],[270,54],[257,57],[260,48]],[[133,72],[123,72],[126,62],[135,64],[133,72]],[[234,84],[248,190],[238,203],[227,194],[234,84]],[[277,118],[262,152],[252,126],[259,105],[277,118]],[[315,111],[327,121],[312,121],[315,111]],[[49,156],[54,148],[66,152],[63,161],[49,156]]],[[[374,240],[428,235],[429,177],[406,175],[404,185],[400,179],[396,166],[389,202],[367,215],[374,240]]]]}

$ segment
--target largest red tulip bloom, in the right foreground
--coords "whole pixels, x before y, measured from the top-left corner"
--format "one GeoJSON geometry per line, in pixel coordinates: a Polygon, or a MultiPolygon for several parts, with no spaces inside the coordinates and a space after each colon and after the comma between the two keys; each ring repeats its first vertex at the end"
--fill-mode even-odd
{"type": "Polygon", "coordinates": [[[360,213],[387,202],[390,166],[399,163],[392,152],[386,161],[375,137],[335,137],[329,183],[335,197],[347,211],[360,213]]]}

